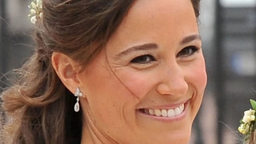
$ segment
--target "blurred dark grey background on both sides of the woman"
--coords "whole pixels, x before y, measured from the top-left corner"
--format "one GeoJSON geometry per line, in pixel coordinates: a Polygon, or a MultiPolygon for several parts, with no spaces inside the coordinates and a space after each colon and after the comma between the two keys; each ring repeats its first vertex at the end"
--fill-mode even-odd
{"type": "MultiPolygon", "coordinates": [[[[0,87],[32,54],[30,0],[0,0],[0,87]]],[[[202,0],[200,33],[208,71],[190,144],[240,144],[243,111],[256,99],[256,0],[202,0]]],[[[0,90],[1,91],[1,90],[0,90]]]]}

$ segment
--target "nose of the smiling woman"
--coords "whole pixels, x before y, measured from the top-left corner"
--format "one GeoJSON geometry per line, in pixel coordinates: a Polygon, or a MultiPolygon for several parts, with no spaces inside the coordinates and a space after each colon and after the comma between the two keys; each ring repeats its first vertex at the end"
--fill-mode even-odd
{"type": "Polygon", "coordinates": [[[177,63],[172,66],[164,66],[160,73],[157,92],[162,95],[182,96],[187,91],[188,83],[185,80],[185,71],[177,63]]]}

